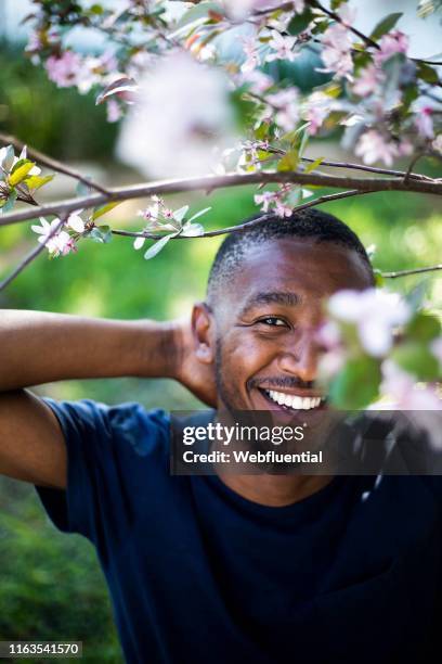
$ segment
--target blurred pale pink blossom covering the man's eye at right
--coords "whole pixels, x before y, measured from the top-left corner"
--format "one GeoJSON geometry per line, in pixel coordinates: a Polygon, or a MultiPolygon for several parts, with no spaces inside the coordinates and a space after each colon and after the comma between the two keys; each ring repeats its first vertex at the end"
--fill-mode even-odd
{"type": "Polygon", "coordinates": [[[411,316],[408,305],[396,293],[378,289],[339,291],[327,304],[338,321],[356,327],[362,347],[374,357],[388,353],[393,343],[393,331],[411,316]]]}

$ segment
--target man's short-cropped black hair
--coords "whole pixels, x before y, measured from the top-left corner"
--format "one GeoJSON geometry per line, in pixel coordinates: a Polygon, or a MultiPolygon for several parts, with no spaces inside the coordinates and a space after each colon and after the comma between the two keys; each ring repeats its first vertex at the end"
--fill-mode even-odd
{"type": "Polygon", "coordinates": [[[373,267],[364,245],[356,233],[334,215],[315,208],[295,212],[291,216],[284,218],[272,213],[263,216],[261,213],[246,219],[243,224],[260,217],[264,218],[256,226],[230,233],[219,247],[207,284],[209,303],[213,303],[216,293],[235,274],[250,247],[286,238],[304,238],[317,243],[333,242],[355,251],[366,264],[374,283],[373,267]]]}

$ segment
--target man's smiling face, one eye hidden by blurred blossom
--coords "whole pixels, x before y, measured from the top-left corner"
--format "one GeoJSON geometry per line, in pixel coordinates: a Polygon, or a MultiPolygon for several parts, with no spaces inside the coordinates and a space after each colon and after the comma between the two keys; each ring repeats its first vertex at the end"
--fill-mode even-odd
{"type": "Polygon", "coordinates": [[[372,285],[356,252],[284,239],[259,244],[217,303],[217,387],[229,410],[313,413],[324,299],[372,285]]]}

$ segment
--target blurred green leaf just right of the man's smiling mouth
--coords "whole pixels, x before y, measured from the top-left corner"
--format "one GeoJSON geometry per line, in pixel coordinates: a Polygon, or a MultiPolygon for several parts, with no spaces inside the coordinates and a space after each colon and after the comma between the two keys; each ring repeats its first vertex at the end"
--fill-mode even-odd
{"type": "Polygon", "coordinates": [[[332,403],[342,409],[364,408],[376,399],[380,380],[378,360],[367,356],[350,359],[332,381],[332,403]]]}

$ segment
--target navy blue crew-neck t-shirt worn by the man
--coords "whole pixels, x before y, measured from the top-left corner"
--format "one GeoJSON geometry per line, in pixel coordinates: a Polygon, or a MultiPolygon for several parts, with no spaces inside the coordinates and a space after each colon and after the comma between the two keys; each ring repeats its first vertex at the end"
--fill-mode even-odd
{"type": "Polygon", "coordinates": [[[171,476],[161,410],[46,401],[68,478],[36,488],[95,546],[130,664],[442,661],[441,477],[335,477],[266,507],[171,476]]]}

